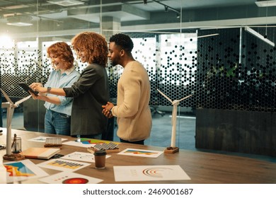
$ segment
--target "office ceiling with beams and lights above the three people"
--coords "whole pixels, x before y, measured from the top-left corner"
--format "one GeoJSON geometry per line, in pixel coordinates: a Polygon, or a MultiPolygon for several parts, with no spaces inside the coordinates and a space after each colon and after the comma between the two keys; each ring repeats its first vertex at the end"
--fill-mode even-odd
{"type": "Polygon", "coordinates": [[[255,0],[8,0],[0,1],[0,33],[66,36],[99,31],[107,20],[119,21],[122,31],[271,25],[275,16],[275,7],[260,8],[255,0]],[[6,25],[13,21],[33,25],[6,25]]]}

